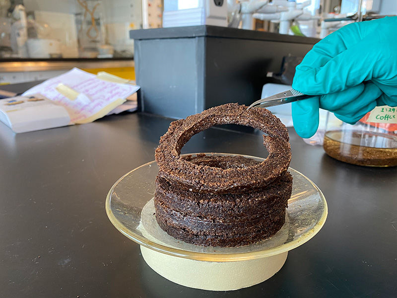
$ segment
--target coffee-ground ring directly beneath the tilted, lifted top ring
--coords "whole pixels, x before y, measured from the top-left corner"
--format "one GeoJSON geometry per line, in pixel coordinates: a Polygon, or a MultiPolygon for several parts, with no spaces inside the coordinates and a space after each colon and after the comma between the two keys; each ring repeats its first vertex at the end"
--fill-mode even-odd
{"type": "Polygon", "coordinates": [[[244,194],[209,195],[182,190],[164,178],[156,179],[154,201],[185,216],[222,222],[245,222],[288,206],[292,176],[286,172],[263,190],[244,194]]]}

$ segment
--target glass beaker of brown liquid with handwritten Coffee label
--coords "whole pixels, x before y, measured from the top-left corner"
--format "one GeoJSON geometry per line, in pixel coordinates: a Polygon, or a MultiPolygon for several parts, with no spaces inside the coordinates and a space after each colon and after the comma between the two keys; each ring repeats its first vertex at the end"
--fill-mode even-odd
{"type": "Polygon", "coordinates": [[[354,125],[328,112],[324,150],[331,157],[365,166],[397,166],[397,108],[376,107],[354,125]]]}

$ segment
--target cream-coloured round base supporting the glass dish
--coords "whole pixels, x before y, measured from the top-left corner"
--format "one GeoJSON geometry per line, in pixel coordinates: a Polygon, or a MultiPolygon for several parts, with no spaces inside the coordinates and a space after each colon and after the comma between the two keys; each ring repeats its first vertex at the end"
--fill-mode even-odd
{"type": "Polygon", "coordinates": [[[257,285],[284,265],[288,252],[237,262],[207,262],[170,256],[140,246],[142,257],[162,277],[185,287],[232,291],[257,285]]]}

